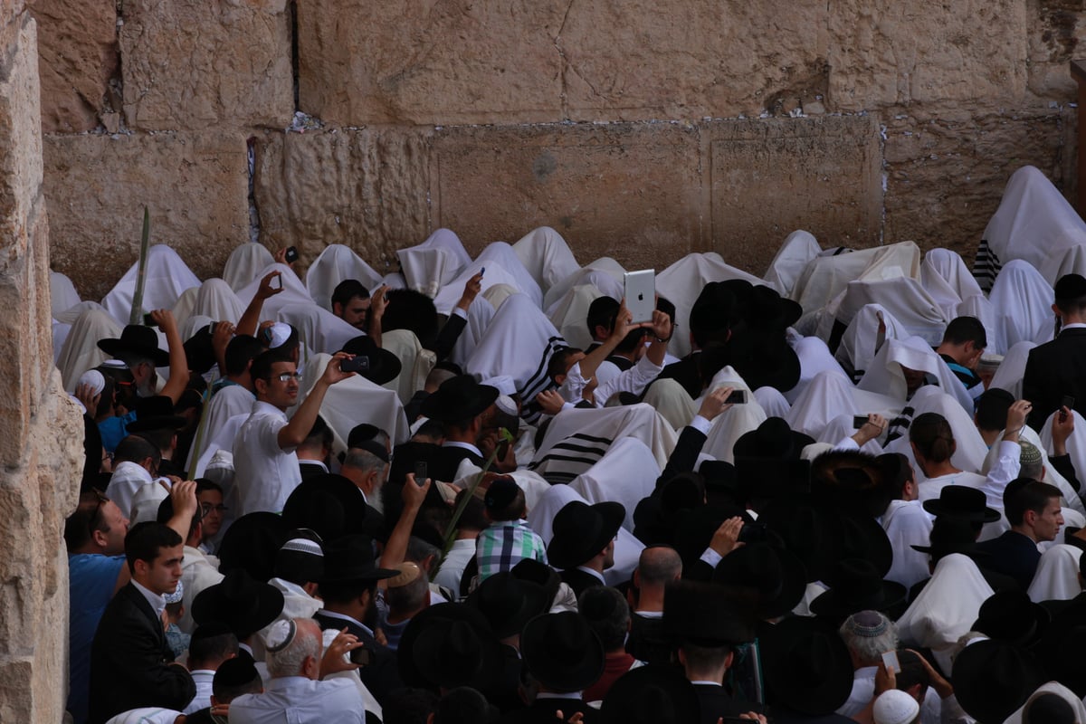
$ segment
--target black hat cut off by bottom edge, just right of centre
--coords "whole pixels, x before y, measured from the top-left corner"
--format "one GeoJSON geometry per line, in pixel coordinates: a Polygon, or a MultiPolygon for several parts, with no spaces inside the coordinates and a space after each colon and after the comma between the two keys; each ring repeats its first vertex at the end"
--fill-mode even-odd
{"type": "Polygon", "coordinates": [[[637,666],[615,679],[599,709],[603,724],[687,724],[700,721],[697,690],[674,666],[637,666]]]}

